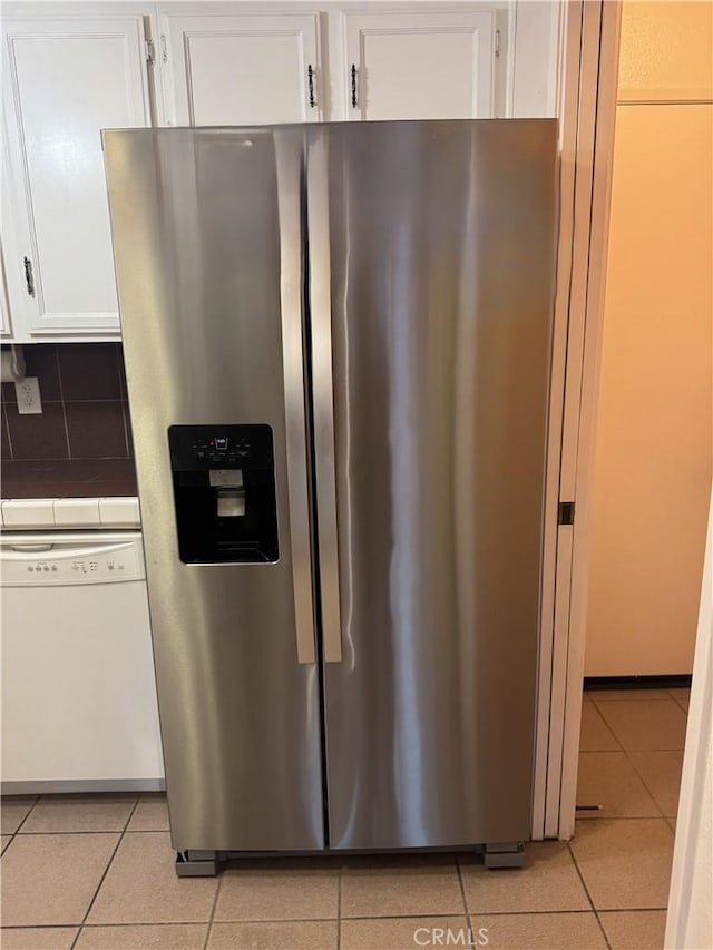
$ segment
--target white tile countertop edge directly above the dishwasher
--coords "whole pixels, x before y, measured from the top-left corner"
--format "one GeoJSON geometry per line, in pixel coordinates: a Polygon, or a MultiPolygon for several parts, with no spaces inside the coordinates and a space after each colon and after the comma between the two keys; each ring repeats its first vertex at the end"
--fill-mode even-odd
{"type": "Polygon", "coordinates": [[[138,498],[6,498],[0,527],[27,531],[38,528],[140,528],[138,498]]]}

